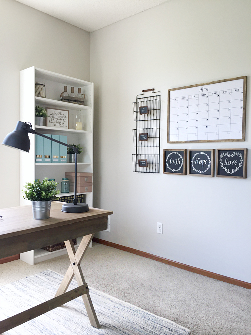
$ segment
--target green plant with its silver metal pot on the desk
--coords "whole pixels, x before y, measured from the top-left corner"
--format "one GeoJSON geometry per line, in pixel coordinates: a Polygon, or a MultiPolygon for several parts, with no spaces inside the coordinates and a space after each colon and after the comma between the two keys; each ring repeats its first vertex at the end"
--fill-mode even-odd
{"type": "Polygon", "coordinates": [[[44,178],[41,182],[39,179],[25,184],[24,199],[32,202],[32,215],[35,220],[43,220],[50,217],[51,200],[56,199],[59,191],[56,190],[56,183],[54,180],[48,181],[44,178]]]}

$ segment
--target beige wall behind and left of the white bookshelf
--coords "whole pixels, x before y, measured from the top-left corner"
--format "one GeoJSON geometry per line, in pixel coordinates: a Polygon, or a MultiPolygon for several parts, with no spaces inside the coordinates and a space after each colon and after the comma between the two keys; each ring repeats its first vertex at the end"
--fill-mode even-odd
{"type": "MultiPolygon", "coordinates": [[[[90,34],[14,0],[0,0],[0,8],[2,143],[19,120],[19,71],[36,66],[89,81],[90,34]]],[[[0,208],[13,206],[19,206],[19,152],[0,145],[0,208]]]]}

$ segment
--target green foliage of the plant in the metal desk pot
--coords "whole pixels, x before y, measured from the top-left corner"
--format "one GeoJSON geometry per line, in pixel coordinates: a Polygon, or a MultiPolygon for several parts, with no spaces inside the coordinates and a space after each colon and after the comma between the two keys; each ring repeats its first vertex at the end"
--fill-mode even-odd
{"type": "Polygon", "coordinates": [[[42,182],[38,179],[37,181],[26,183],[25,190],[22,190],[25,193],[23,198],[31,201],[56,200],[56,195],[59,193],[56,190],[57,185],[58,183],[54,180],[48,181],[48,178],[44,178],[42,182]]]}

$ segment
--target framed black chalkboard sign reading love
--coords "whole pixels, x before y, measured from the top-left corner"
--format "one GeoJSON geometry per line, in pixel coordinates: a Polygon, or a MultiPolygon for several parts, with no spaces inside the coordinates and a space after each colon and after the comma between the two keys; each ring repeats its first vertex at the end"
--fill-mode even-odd
{"type": "Polygon", "coordinates": [[[216,176],[246,178],[247,149],[217,149],[216,176]]]}

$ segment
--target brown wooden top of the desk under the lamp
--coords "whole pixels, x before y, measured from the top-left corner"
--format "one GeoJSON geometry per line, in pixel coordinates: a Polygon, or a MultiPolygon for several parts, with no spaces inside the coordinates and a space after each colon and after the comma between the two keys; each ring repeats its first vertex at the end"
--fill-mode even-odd
{"type": "Polygon", "coordinates": [[[97,208],[90,208],[85,213],[65,213],[61,211],[62,204],[62,202],[58,201],[52,202],[50,218],[46,220],[33,219],[31,205],[0,209],[0,214],[3,216],[0,219],[0,243],[1,239],[62,227],[113,214],[112,211],[97,208]]]}

